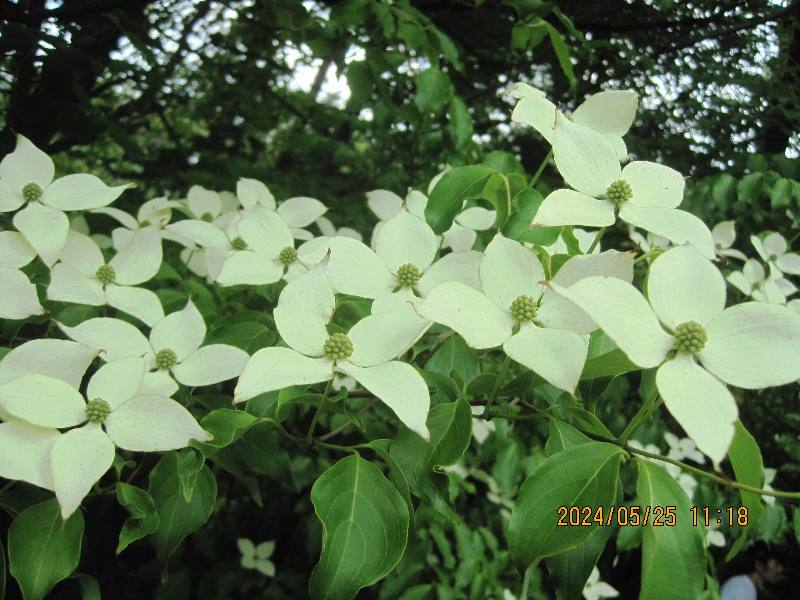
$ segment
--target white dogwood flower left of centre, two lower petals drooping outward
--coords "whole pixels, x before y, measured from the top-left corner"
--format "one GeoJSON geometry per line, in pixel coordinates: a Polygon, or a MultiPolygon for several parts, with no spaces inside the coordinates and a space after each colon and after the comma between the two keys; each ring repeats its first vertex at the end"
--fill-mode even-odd
{"type": "Polygon", "coordinates": [[[411,365],[376,358],[398,356],[400,350],[393,350],[394,340],[383,335],[369,317],[347,334],[329,334],[333,309],[333,290],[321,267],[289,282],[273,313],[278,332],[289,347],[256,352],[239,377],[234,402],[289,385],[330,381],[339,372],[358,381],[409,429],[427,439],[430,396],[425,381],[411,365]]]}

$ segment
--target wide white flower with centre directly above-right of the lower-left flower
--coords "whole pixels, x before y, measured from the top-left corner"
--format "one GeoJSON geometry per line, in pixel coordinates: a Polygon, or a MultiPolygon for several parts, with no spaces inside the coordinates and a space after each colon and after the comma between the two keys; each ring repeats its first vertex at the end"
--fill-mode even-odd
{"type": "Polygon", "coordinates": [[[130,323],[107,317],[88,319],[75,327],[59,327],[71,339],[102,349],[103,360],[143,356],[148,370],[171,373],[188,386],[211,385],[237,377],[249,358],[247,352],[228,344],[204,346],[206,324],[191,300],[153,325],[149,340],[130,323]]]}

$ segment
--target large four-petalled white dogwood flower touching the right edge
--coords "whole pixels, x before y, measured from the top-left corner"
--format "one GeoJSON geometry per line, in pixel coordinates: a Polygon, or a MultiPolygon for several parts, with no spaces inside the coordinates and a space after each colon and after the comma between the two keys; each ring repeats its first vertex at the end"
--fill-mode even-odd
{"type": "Polygon", "coordinates": [[[800,316],[759,302],[725,308],[725,280],[690,246],[653,262],[647,299],[608,277],[551,287],[585,310],[636,365],[658,367],[667,410],[715,464],[738,415],[725,383],[758,389],[800,377],[800,316]]]}

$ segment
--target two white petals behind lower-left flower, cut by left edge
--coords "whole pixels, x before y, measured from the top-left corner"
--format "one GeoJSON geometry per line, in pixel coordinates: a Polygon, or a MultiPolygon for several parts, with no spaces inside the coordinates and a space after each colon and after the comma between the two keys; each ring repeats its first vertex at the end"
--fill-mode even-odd
{"type": "MultiPolygon", "coordinates": [[[[0,387],[23,375],[59,379],[77,390],[97,351],[68,340],[31,340],[0,360],[0,387]]],[[[27,481],[52,490],[50,453],[61,436],[58,430],[31,425],[0,406],[0,477],[27,481]]]]}

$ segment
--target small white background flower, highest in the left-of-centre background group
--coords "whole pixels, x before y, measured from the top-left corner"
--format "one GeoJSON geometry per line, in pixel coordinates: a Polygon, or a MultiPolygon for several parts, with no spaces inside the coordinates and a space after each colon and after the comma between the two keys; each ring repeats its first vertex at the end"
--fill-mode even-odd
{"type": "Polygon", "coordinates": [[[256,179],[242,177],[236,184],[236,197],[243,215],[260,218],[265,211],[277,213],[292,231],[293,237],[309,240],[314,235],[304,229],[324,215],[328,208],[315,198],[297,196],[288,198],[276,207],[275,196],[266,185],[256,179]]]}

